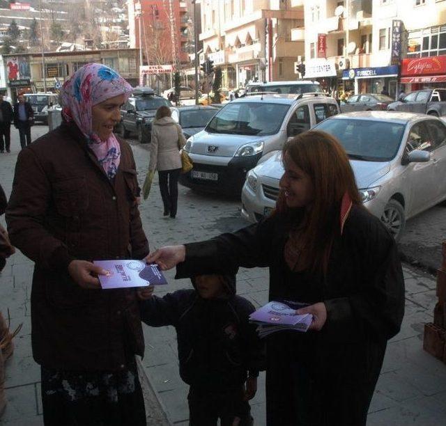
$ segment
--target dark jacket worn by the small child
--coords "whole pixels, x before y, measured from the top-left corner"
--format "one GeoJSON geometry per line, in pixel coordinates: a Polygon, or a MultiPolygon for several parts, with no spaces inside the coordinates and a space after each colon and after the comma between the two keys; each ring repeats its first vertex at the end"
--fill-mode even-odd
{"type": "Polygon", "coordinates": [[[178,290],[141,302],[141,319],[150,326],[172,325],[178,340],[180,376],[201,389],[239,389],[264,370],[263,342],[249,324],[252,303],[240,296],[203,299],[195,290],[178,290]]]}

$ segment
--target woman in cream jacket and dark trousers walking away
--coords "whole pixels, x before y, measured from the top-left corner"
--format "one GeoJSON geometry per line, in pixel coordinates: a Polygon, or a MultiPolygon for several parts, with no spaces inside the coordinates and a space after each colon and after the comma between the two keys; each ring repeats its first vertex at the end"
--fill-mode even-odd
{"type": "Polygon", "coordinates": [[[164,216],[176,216],[178,178],[181,171],[180,149],[185,145],[180,125],[171,117],[169,107],[157,109],[152,123],[149,171],[158,171],[164,216]]]}

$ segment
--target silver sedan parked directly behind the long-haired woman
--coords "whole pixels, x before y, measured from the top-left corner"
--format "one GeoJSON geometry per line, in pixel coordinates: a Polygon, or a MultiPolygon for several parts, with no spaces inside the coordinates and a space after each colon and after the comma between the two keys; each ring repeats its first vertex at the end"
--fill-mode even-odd
{"type": "MultiPolygon", "coordinates": [[[[346,149],[364,206],[397,241],[406,219],[446,200],[446,125],[424,114],[360,111],[328,118],[314,127],[346,149]]],[[[284,173],[282,152],[249,171],[242,215],[270,214],[284,173]]]]}

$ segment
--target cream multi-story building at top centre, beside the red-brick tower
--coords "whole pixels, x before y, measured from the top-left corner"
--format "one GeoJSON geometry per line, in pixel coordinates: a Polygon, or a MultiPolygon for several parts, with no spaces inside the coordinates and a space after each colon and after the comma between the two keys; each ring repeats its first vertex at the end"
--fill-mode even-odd
{"type": "Polygon", "coordinates": [[[303,40],[291,41],[291,29],[303,26],[303,1],[202,0],[203,56],[222,68],[222,85],[248,81],[291,80],[303,54],[303,40]]]}

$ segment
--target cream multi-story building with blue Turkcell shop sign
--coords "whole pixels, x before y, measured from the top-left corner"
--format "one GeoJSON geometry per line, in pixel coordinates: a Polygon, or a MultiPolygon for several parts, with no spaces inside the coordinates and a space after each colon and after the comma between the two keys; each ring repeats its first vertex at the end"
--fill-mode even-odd
{"type": "MultiPolygon", "coordinates": [[[[305,40],[305,77],[321,80],[328,90],[380,93],[385,88],[396,96],[399,84],[408,83],[403,78],[407,58],[446,53],[446,38],[440,42],[441,34],[446,33],[443,0],[295,3],[305,3],[305,28],[291,32],[293,40],[305,40]]],[[[438,61],[446,65],[446,61],[438,61]]],[[[428,67],[427,63],[436,63],[433,59],[419,62],[428,67]]],[[[409,68],[413,70],[413,66],[409,68]]],[[[438,74],[440,71],[445,74],[446,67],[439,67],[438,74]]],[[[416,86],[406,91],[413,88],[416,86]]]]}

